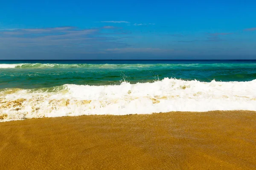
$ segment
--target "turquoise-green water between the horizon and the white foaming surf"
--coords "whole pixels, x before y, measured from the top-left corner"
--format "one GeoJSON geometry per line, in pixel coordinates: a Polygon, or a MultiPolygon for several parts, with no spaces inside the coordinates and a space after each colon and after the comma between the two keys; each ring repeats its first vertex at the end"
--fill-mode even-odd
{"type": "Polygon", "coordinates": [[[256,60],[1,60],[0,89],[183,80],[251,81],[256,60]]]}

